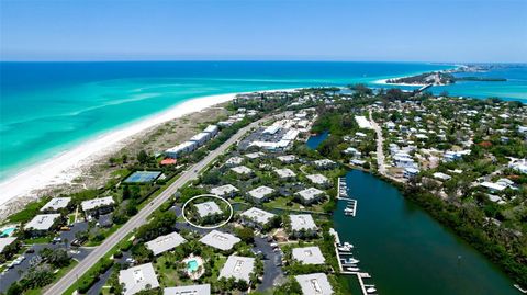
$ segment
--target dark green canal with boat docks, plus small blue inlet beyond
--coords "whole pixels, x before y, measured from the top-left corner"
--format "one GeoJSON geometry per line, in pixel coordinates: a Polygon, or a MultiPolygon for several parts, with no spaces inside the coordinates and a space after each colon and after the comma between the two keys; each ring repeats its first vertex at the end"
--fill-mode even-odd
{"type": "MultiPolygon", "coordinates": [[[[327,134],[317,137],[307,141],[311,148],[327,134]]],[[[357,216],[345,216],[346,202],[339,201],[335,229],[355,246],[359,268],[379,294],[519,294],[500,269],[395,186],[359,170],[350,170],[346,183],[349,197],[358,201],[357,216]]],[[[360,294],[357,277],[346,277],[360,294]]]]}

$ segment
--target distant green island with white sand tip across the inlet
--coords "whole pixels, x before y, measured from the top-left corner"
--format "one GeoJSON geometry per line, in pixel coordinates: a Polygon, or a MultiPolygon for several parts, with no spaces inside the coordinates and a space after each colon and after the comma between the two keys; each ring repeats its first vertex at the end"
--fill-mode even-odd
{"type": "Polygon", "coordinates": [[[411,86],[446,86],[453,84],[457,81],[480,81],[480,82],[504,82],[505,78],[493,77],[455,77],[453,72],[476,72],[482,71],[482,66],[462,66],[453,70],[424,72],[410,77],[401,77],[385,80],[389,84],[411,84],[411,86]]]}

